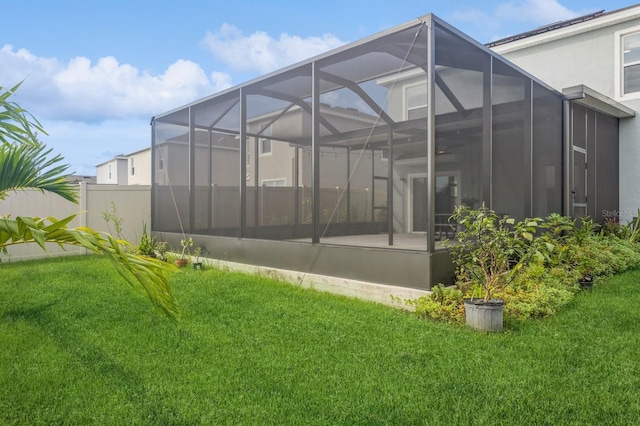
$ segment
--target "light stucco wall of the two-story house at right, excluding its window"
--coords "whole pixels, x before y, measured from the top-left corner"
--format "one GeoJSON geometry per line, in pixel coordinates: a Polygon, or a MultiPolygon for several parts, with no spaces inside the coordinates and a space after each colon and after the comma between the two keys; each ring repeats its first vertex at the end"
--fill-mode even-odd
{"type": "MultiPolygon", "coordinates": [[[[499,45],[494,51],[557,90],[584,84],[640,112],[640,94],[621,92],[622,35],[640,32],[640,7],[499,45]]],[[[640,208],[640,117],[619,122],[619,217],[640,208]]],[[[601,212],[599,212],[601,213],[601,212]]],[[[610,212],[608,212],[610,213],[610,212]]]]}

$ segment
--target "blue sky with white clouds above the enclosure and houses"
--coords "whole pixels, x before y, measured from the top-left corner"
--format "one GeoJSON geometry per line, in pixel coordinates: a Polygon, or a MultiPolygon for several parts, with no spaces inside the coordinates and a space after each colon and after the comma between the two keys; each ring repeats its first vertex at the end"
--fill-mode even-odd
{"type": "Polygon", "coordinates": [[[623,0],[0,0],[0,86],[70,165],[151,143],[150,121],[218,91],[427,13],[479,42],[623,0]]]}

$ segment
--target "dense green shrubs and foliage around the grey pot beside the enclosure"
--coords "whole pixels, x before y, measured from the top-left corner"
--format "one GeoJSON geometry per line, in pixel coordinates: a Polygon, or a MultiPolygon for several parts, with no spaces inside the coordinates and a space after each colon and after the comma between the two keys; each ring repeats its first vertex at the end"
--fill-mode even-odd
{"type": "Polygon", "coordinates": [[[596,233],[599,225],[588,217],[517,222],[484,206],[458,208],[453,218],[461,229],[459,244],[449,245],[456,287],[439,284],[412,301],[425,318],[463,324],[464,299],[487,295],[504,301],[507,322],[545,318],[572,300],[579,280],[640,267],[632,225],[607,223],[596,233]]]}

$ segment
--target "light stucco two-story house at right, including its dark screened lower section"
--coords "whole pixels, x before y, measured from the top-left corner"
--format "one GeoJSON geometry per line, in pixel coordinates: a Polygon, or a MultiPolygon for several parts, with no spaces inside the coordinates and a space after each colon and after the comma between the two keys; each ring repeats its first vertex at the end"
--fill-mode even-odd
{"type": "Polygon", "coordinates": [[[624,223],[640,207],[640,5],[559,22],[490,43],[491,49],[573,100],[566,119],[574,125],[565,155],[575,167],[576,215],[624,223]],[[603,102],[604,101],[604,102],[603,102]],[[610,104],[616,108],[611,108],[610,104]],[[594,111],[595,110],[595,111],[594,111]],[[619,123],[618,123],[619,121],[619,123]],[[619,128],[619,146],[601,138],[619,128]],[[619,171],[596,170],[601,156],[619,159],[619,171]],[[596,177],[597,176],[597,177],[596,177]],[[619,210],[596,200],[607,193],[619,210]]]}

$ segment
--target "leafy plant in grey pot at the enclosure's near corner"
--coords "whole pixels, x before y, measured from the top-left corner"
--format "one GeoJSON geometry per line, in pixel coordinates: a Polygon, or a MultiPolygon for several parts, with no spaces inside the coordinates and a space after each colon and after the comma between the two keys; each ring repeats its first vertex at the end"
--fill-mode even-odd
{"type": "MultiPolygon", "coordinates": [[[[466,323],[483,331],[502,331],[504,301],[493,296],[504,290],[514,275],[533,259],[544,260],[534,234],[541,219],[516,222],[499,217],[484,205],[479,209],[457,207],[452,219],[459,225],[458,244],[447,246],[459,282],[466,283],[471,296],[464,300],[466,323]],[[482,297],[474,297],[476,289],[482,297]]],[[[552,249],[545,243],[543,247],[552,249]]],[[[465,285],[463,285],[465,287],[465,285]]]]}

